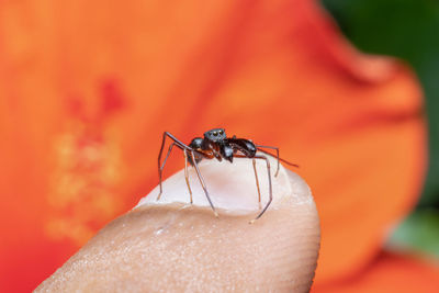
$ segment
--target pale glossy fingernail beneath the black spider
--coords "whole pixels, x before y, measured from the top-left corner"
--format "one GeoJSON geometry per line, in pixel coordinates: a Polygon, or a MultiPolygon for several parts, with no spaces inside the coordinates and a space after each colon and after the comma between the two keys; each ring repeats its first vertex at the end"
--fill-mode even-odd
{"type": "MultiPolygon", "coordinates": [[[[281,207],[293,200],[295,203],[313,202],[311,191],[305,181],[294,172],[280,167],[277,172],[275,158],[269,157],[270,171],[264,160],[257,160],[257,174],[261,193],[261,206],[269,201],[269,173],[272,181],[272,203],[269,210],[281,207]]],[[[200,165],[200,172],[204,178],[209,195],[216,210],[229,214],[257,214],[260,211],[258,188],[251,159],[236,158],[234,162],[204,160],[200,165]]],[[[209,207],[206,194],[193,167],[189,167],[189,182],[192,190],[193,206],[209,207]]],[[[162,182],[162,194],[157,200],[159,187],[144,196],[135,206],[170,205],[190,203],[190,193],[184,178],[184,170],[162,182]]],[[[268,211],[269,211],[268,210],[268,211]]]]}

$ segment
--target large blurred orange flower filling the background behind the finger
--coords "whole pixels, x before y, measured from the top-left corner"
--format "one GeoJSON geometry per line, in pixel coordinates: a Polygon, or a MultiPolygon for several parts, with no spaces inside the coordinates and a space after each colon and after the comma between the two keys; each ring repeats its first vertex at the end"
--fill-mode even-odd
{"type": "Polygon", "coordinates": [[[425,176],[419,86],[315,1],[0,7],[1,292],[34,289],[147,193],[165,129],[219,125],[302,166],[322,218],[315,292],[439,288],[437,268],[382,252],[425,176]]]}

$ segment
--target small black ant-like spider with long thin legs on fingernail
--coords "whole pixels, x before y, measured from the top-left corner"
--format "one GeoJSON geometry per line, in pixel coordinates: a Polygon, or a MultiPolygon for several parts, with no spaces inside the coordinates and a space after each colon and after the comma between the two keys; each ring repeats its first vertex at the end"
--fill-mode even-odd
{"type": "Polygon", "coordinates": [[[172,148],[177,146],[181,150],[183,150],[184,155],[184,178],[185,178],[185,183],[188,185],[189,194],[190,194],[190,201],[192,203],[192,190],[189,184],[189,176],[188,176],[188,162],[195,168],[196,176],[200,180],[200,183],[204,190],[205,196],[212,207],[213,213],[215,216],[218,216],[218,213],[215,210],[215,206],[212,203],[211,196],[209,195],[209,191],[206,188],[206,184],[204,182],[203,176],[200,172],[199,169],[199,162],[203,159],[217,159],[218,161],[222,161],[223,159],[228,160],[229,162],[233,162],[234,158],[250,158],[252,159],[252,165],[254,165],[254,170],[255,170],[255,179],[256,179],[256,185],[258,189],[258,199],[259,199],[259,210],[261,210],[261,195],[260,195],[260,189],[259,189],[259,180],[258,180],[258,173],[256,171],[256,160],[264,160],[267,165],[267,173],[268,173],[268,182],[269,182],[269,200],[267,204],[263,206],[263,209],[260,211],[260,213],[256,216],[255,219],[252,219],[250,223],[254,223],[256,219],[260,218],[263,213],[267,211],[267,209],[270,206],[271,201],[273,200],[273,194],[272,194],[272,185],[271,185],[271,174],[270,174],[270,162],[264,155],[259,155],[257,151],[261,151],[266,155],[270,155],[272,157],[275,157],[278,160],[278,167],[274,177],[278,176],[279,173],[279,161],[283,161],[290,166],[293,167],[299,167],[295,164],[289,162],[284,159],[281,159],[279,157],[279,148],[273,147],[273,146],[262,146],[262,145],[256,145],[252,143],[250,139],[246,138],[237,138],[235,135],[233,137],[227,137],[226,132],[224,128],[214,128],[209,132],[204,133],[204,137],[195,137],[191,140],[189,145],[183,144],[180,142],[178,138],[176,138],[172,134],[169,132],[164,133],[164,137],[161,140],[161,147],[160,147],[160,153],[158,155],[158,177],[159,177],[159,185],[160,185],[160,193],[157,196],[157,201],[160,200],[161,193],[162,193],[162,171],[165,168],[165,164],[171,154],[172,148]],[[173,142],[170,144],[168,154],[165,157],[164,162],[161,164],[161,155],[164,153],[164,147],[166,143],[166,138],[169,137],[173,142]],[[262,149],[262,148],[269,148],[269,149],[274,149],[277,155],[272,155],[269,151],[262,149]]]}

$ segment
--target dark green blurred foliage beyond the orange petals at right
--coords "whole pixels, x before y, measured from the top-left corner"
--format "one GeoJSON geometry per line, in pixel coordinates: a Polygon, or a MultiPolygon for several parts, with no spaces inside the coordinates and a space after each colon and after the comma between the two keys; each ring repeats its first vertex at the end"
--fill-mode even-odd
{"type": "Polygon", "coordinates": [[[407,63],[423,87],[429,161],[421,198],[389,239],[439,257],[439,2],[430,0],[324,0],[342,33],[359,49],[407,63]]]}

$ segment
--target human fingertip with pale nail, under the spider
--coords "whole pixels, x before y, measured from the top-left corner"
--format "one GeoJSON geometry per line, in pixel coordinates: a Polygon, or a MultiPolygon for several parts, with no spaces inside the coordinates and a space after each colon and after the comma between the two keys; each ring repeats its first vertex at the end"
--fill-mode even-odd
{"type": "MultiPolygon", "coordinates": [[[[303,179],[281,167],[273,202],[254,224],[258,195],[251,160],[201,164],[210,210],[192,168],[180,171],[131,212],[100,230],[35,292],[308,292],[314,279],[319,221],[303,179]]],[[[264,162],[258,162],[262,206],[264,162]]]]}

